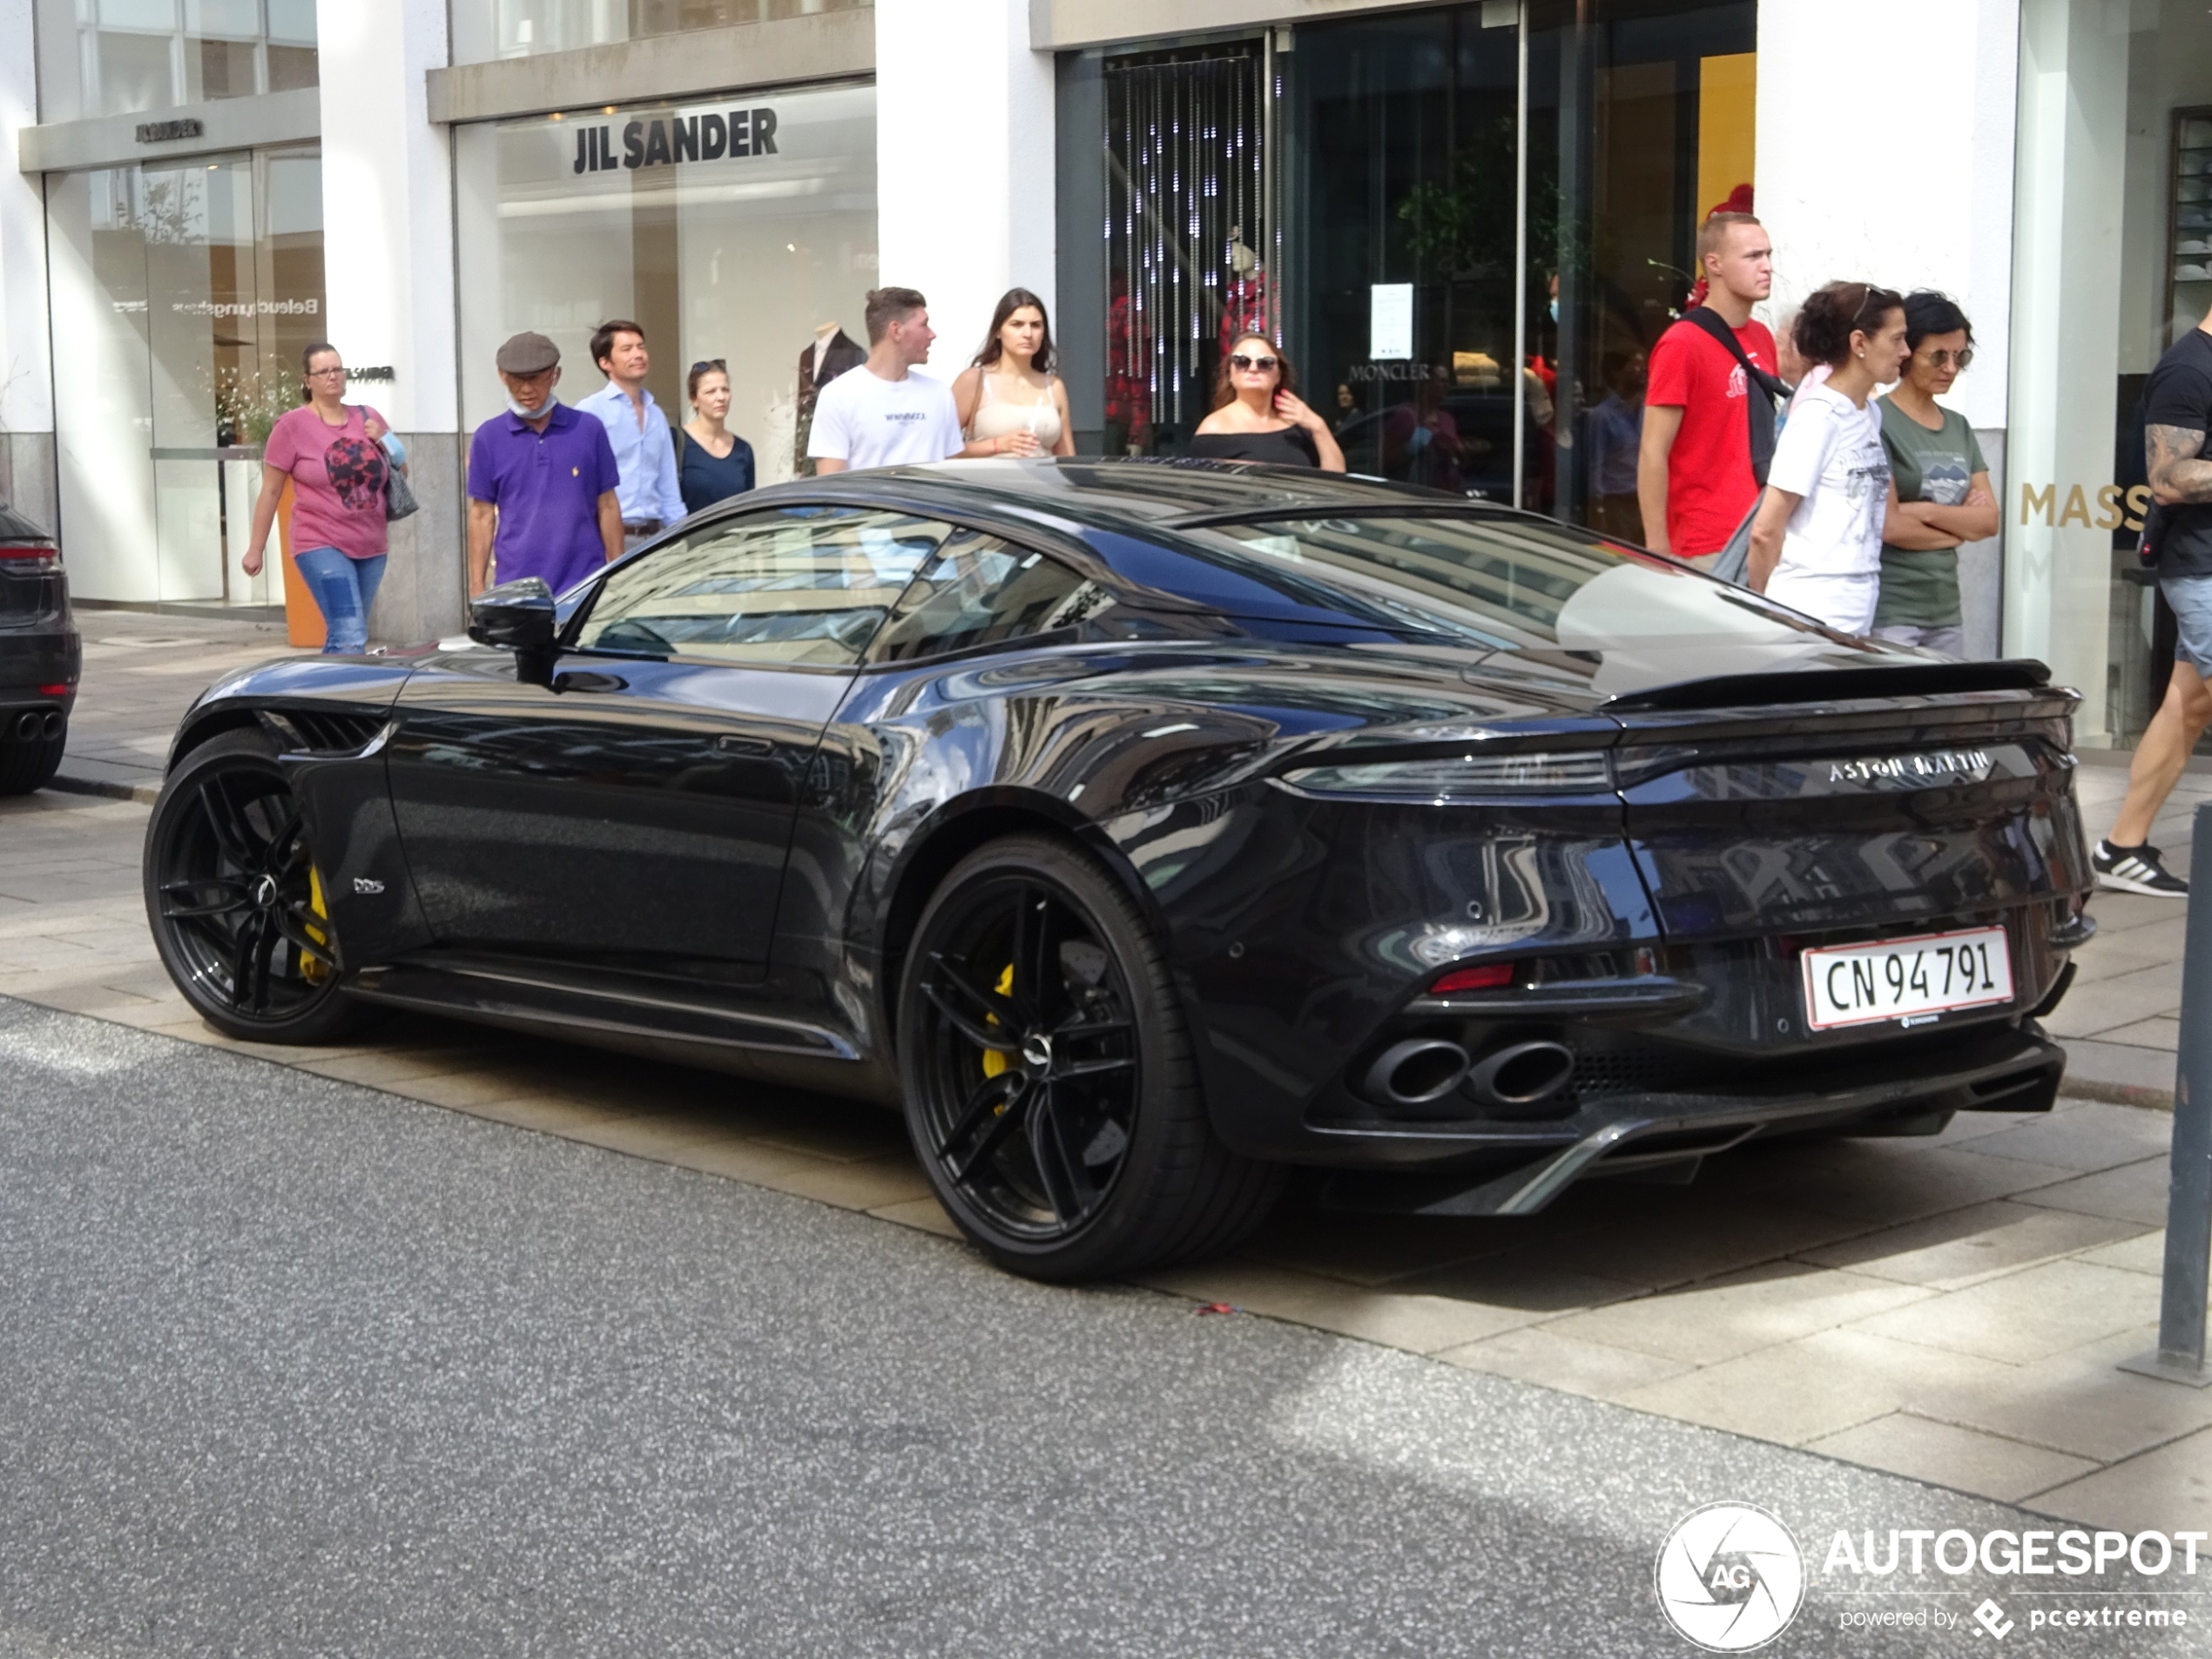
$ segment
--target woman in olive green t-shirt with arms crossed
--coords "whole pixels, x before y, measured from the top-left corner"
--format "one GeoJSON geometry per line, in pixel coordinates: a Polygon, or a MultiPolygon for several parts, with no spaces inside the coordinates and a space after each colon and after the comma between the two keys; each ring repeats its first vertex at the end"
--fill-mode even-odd
{"type": "Polygon", "coordinates": [[[1889,515],[1874,637],[1964,657],[1958,549],[1997,533],[1997,498],[1966,416],[1936,398],[1973,363],[1973,325],[1949,296],[1922,290],[1905,299],[1905,378],[1878,400],[1889,515]]]}

